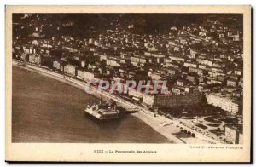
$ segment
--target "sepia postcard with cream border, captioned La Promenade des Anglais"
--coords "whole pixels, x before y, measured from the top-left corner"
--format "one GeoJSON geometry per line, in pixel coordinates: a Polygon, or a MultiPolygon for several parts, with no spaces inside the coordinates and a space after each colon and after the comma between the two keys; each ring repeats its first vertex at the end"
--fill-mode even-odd
{"type": "Polygon", "coordinates": [[[7,7],[11,161],[186,161],[177,147],[250,159],[250,6],[64,7],[7,7]],[[44,144],[94,148],[32,158],[44,144]]]}

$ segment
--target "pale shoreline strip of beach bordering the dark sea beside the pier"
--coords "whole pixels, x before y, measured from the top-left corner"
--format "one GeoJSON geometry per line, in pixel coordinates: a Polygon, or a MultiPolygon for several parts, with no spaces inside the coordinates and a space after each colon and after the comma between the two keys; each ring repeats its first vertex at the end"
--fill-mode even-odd
{"type": "MultiPolygon", "coordinates": [[[[40,75],[43,75],[45,77],[53,78],[55,80],[58,80],[62,83],[67,83],[71,86],[74,86],[75,88],[84,90],[84,83],[82,81],[69,78],[67,76],[63,76],[60,73],[52,72],[49,70],[46,70],[44,68],[38,67],[38,66],[32,66],[32,65],[26,65],[26,67],[18,66],[18,62],[13,60],[13,66],[20,67],[21,69],[26,69],[30,72],[36,72],[40,75]]],[[[92,88],[95,89],[95,88],[92,88]]],[[[194,144],[194,143],[208,143],[202,138],[193,138],[193,137],[181,137],[178,138],[176,135],[180,132],[180,129],[177,128],[174,121],[168,118],[164,118],[160,115],[157,115],[154,117],[153,112],[146,111],[144,108],[137,107],[136,105],[132,104],[131,102],[125,101],[117,96],[109,95],[107,92],[101,92],[95,93],[92,96],[96,98],[102,98],[102,100],[108,100],[109,98],[112,98],[114,101],[116,101],[119,105],[125,108],[137,108],[139,109],[136,113],[131,113],[131,115],[135,118],[140,119],[143,121],[143,123],[148,124],[154,131],[159,133],[160,135],[166,137],[167,140],[172,141],[173,144],[194,144]]]]}

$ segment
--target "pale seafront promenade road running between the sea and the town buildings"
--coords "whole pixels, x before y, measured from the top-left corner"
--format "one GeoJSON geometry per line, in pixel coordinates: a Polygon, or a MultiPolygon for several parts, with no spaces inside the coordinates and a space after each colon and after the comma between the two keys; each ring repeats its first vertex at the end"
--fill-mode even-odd
{"type": "MultiPolygon", "coordinates": [[[[18,64],[18,62],[13,60],[13,65],[18,66],[17,64],[18,64]]],[[[38,72],[38,73],[40,73],[44,76],[48,76],[50,78],[55,78],[64,83],[72,84],[73,86],[75,86],[79,89],[84,89],[84,87],[85,87],[85,83],[83,83],[79,80],[63,76],[60,73],[52,72],[48,69],[44,69],[39,66],[33,66],[33,65],[26,64],[26,67],[23,67],[23,68],[26,68],[27,70],[30,70],[33,72],[38,72]]],[[[90,88],[96,90],[96,88],[94,88],[94,87],[90,87],[90,88]]],[[[133,113],[132,115],[143,120],[143,122],[145,122],[146,124],[151,126],[154,130],[156,130],[161,135],[164,135],[167,139],[169,139],[170,141],[173,141],[175,143],[184,143],[184,142],[188,143],[186,141],[178,139],[175,135],[173,135],[171,133],[173,130],[175,130],[175,129],[177,130],[176,126],[182,127],[183,129],[189,130],[195,134],[196,138],[194,140],[189,140],[189,142],[192,141],[193,143],[204,142],[204,143],[216,143],[216,144],[220,143],[219,141],[216,141],[216,140],[208,137],[207,135],[203,135],[195,130],[190,129],[187,126],[184,126],[183,124],[180,124],[179,120],[171,120],[171,119],[165,118],[160,115],[156,115],[156,117],[154,117],[153,112],[148,111],[146,108],[139,107],[129,101],[125,101],[116,95],[111,95],[107,92],[102,92],[96,96],[97,97],[105,96],[109,99],[113,99],[114,101],[118,102],[121,106],[128,108],[128,109],[137,108],[139,110],[139,112],[133,113]],[[155,124],[155,123],[157,123],[157,124],[155,124]],[[168,125],[160,126],[160,124],[168,124],[168,125]]]]}

